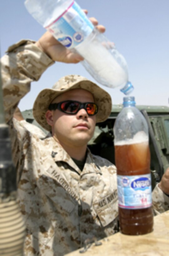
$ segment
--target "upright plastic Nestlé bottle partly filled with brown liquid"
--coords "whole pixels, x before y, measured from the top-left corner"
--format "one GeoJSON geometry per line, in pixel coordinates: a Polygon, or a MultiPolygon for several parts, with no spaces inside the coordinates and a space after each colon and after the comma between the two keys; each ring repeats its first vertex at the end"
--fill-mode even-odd
{"type": "Polygon", "coordinates": [[[123,106],[114,125],[120,230],[147,234],[153,229],[148,126],[134,97],[124,97],[123,106]]]}

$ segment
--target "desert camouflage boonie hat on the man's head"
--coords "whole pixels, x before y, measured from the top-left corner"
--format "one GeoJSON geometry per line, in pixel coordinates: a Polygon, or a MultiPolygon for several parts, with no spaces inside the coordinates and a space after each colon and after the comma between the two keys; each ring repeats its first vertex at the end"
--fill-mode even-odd
{"type": "Polygon", "coordinates": [[[92,93],[94,102],[98,105],[97,122],[103,122],[109,117],[112,107],[109,93],[83,76],[69,75],[60,78],[51,89],[42,90],[34,102],[33,115],[43,128],[51,131],[45,117],[50,103],[60,94],[72,89],[84,89],[92,93]]]}

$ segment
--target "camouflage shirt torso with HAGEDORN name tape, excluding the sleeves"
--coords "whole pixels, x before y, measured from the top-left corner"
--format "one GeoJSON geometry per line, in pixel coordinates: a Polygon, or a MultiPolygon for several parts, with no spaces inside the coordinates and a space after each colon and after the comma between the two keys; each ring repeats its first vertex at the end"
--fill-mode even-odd
{"type": "MultiPolygon", "coordinates": [[[[64,255],[85,239],[117,231],[116,169],[88,157],[83,172],[53,139],[32,135],[14,121],[23,145],[18,168],[18,202],[27,226],[26,255],[64,255]],[[30,143],[31,142],[31,143],[30,143]]],[[[12,128],[12,126],[11,126],[12,128]]]]}

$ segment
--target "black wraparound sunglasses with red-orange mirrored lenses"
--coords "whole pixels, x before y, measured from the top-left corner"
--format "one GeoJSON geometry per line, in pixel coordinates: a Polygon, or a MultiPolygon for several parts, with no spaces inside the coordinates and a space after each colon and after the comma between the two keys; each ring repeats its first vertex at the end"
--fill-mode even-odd
{"type": "Polygon", "coordinates": [[[59,109],[66,114],[76,114],[80,109],[84,108],[89,116],[94,116],[98,112],[98,106],[94,102],[79,102],[79,101],[61,101],[51,103],[49,110],[59,109]]]}

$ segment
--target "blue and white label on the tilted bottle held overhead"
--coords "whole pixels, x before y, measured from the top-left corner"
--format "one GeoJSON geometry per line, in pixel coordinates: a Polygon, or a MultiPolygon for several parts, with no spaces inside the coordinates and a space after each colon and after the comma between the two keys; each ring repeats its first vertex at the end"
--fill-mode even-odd
{"type": "Polygon", "coordinates": [[[49,26],[45,27],[65,47],[79,45],[93,31],[94,26],[76,2],[49,26]]]}

